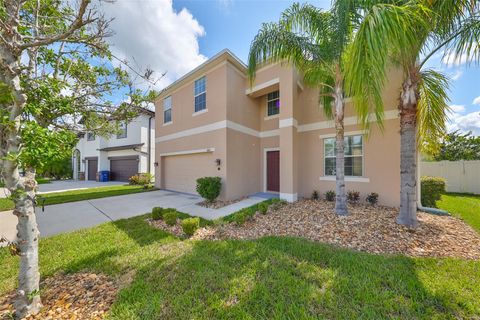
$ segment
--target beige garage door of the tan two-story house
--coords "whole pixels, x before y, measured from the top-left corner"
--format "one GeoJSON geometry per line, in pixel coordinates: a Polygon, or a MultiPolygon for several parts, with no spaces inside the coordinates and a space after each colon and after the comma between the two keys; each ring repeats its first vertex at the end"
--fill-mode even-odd
{"type": "Polygon", "coordinates": [[[212,153],[196,153],[163,158],[164,188],[196,194],[197,179],[216,176],[212,153]]]}

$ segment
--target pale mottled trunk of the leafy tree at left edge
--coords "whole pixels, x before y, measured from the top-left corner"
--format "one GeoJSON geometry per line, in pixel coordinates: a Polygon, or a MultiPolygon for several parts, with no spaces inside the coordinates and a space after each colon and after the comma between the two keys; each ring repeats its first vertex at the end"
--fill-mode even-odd
{"type": "MultiPolygon", "coordinates": [[[[19,153],[21,145],[20,120],[26,104],[26,96],[20,87],[20,56],[1,50],[0,58],[9,66],[4,70],[0,81],[8,88],[12,96],[11,101],[1,105],[1,108],[8,112],[10,125],[2,128],[0,155],[16,155],[19,153]]],[[[36,181],[35,173],[32,170],[28,171],[24,178],[20,176],[17,159],[10,157],[2,159],[5,185],[15,203],[13,213],[18,217],[17,252],[20,256],[20,270],[18,294],[15,300],[15,318],[21,319],[29,314],[38,313],[42,307],[39,296],[39,231],[34,205],[36,181]]]]}

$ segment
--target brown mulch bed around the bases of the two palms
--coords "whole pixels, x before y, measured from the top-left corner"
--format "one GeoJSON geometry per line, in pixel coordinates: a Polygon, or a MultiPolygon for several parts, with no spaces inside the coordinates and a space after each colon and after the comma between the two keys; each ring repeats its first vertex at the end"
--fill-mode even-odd
{"type": "Polygon", "coordinates": [[[410,229],[395,222],[395,208],[351,205],[349,212],[340,217],[333,202],[301,200],[266,215],[257,213],[243,226],[202,228],[193,238],[297,236],[376,254],[480,259],[480,235],[455,217],[419,212],[419,226],[410,229]]]}

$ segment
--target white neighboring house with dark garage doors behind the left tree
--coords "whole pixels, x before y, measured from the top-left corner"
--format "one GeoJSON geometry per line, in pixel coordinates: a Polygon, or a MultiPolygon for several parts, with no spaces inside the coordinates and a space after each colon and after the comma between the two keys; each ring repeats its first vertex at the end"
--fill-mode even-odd
{"type": "Polygon", "coordinates": [[[73,155],[73,178],[98,180],[99,171],[110,179],[128,181],[137,173],[154,173],[155,112],[142,109],[138,117],[120,124],[121,131],[109,139],[86,132],[73,155]]]}

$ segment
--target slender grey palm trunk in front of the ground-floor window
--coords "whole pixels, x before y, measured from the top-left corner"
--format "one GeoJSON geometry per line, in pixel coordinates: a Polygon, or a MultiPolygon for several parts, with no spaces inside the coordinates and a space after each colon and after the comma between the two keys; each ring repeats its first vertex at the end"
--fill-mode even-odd
{"type": "Polygon", "coordinates": [[[344,136],[345,128],[343,125],[345,102],[343,99],[342,80],[337,75],[335,85],[335,138],[336,138],[336,187],[335,187],[335,213],[338,215],[348,215],[347,195],[345,193],[345,150],[344,136]]]}

